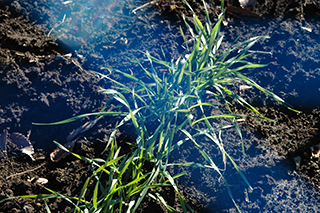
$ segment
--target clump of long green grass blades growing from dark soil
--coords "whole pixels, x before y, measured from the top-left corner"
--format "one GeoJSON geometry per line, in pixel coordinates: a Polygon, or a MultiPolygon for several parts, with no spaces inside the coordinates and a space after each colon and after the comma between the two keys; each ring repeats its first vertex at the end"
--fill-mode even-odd
{"type": "MultiPolygon", "coordinates": [[[[192,10],[190,5],[187,2],[185,3],[192,10]]],[[[113,212],[116,209],[119,212],[134,212],[143,198],[150,196],[162,203],[168,211],[175,212],[176,210],[168,206],[156,191],[158,187],[169,184],[177,192],[183,212],[187,212],[188,210],[192,212],[190,206],[180,195],[174,181],[175,178],[183,175],[183,173],[173,177],[168,172],[167,167],[193,166],[209,168],[217,172],[224,180],[230,198],[235,206],[237,206],[233,200],[227,180],[225,180],[221,173],[221,169],[217,166],[214,159],[199,145],[199,138],[207,137],[212,141],[212,144],[220,151],[224,163],[229,160],[248,187],[251,187],[244,174],[225,151],[223,142],[217,135],[220,127],[215,127],[211,120],[217,118],[230,119],[231,126],[236,128],[242,139],[237,118],[246,117],[246,115],[237,115],[232,112],[231,103],[228,101],[230,98],[256,113],[255,117],[267,119],[263,118],[236,91],[229,89],[229,86],[235,83],[253,86],[272,96],[276,101],[288,108],[290,106],[277,95],[247,78],[243,73],[243,71],[249,68],[264,67],[264,65],[252,64],[245,59],[253,54],[248,53],[248,50],[257,41],[268,37],[254,37],[234,47],[235,41],[233,45],[221,53],[219,48],[223,37],[220,36],[220,26],[223,14],[220,15],[215,25],[212,25],[205,3],[204,7],[206,10],[206,22],[204,24],[201,23],[194,12],[193,27],[185,21],[193,39],[192,47],[189,47],[181,30],[183,38],[186,41],[187,55],[169,62],[154,58],[146,52],[145,60],[133,61],[141,66],[143,72],[148,76],[148,81],[143,81],[120,70],[106,68],[111,73],[120,74],[130,80],[131,86],[127,86],[108,75],[94,72],[102,78],[113,82],[113,88],[101,89],[100,92],[110,95],[112,97],[110,101],[116,100],[122,108],[116,106],[113,110],[106,112],[104,111],[106,107],[104,107],[101,112],[86,114],[85,116],[118,115],[123,116],[123,119],[117,124],[107,143],[107,147],[110,148],[107,159],[87,159],[73,153],[74,156],[91,163],[93,167],[93,173],[84,183],[80,196],[77,198],[66,197],[48,189],[52,194],[19,197],[64,198],[75,206],[74,211],[79,212],[113,212]],[[238,50],[240,50],[239,53],[237,52],[238,50]],[[148,62],[150,67],[146,68],[143,66],[143,62],[148,62]],[[163,66],[167,72],[159,75],[155,65],[163,66]],[[208,96],[215,97],[215,100],[218,101],[209,102],[208,96]],[[117,111],[118,109],[123,109],[123,107],[125,110],[117,111]],[[205,107],[224,107],[227,113],[208,115],[204,110],[205,107]],[[196,114],[194,109],[197,109],[196,114]],[[149,126],[151,121],[155,123],[155,127],[152,130],[149,126]],[[115,132],[127,122],[132,123],[137,133],[136,140],[133,143],[135,149],[132,153],[119,156],[120,147],[116,143],[115,132]],[[197,126],[202,126],[202,128],[198,128],[197,126]],[[176,141],[175,135],[178,133],[182,133],[183,138],[176,141]],[[205,159],[205,162],[170,163],[170,153],[187,141],[195,145],[205,159]],[[143,173],[141,168],[146,162],[151,163],[152,169],[147,173],[143,173]],[[107,178],[102,178],[105,176],[107,178]],[[85,194],[90,180],[94,180],[94,190],[91,199],[86,200],[85,194]]],[[[84,115],[51,123],[50,125],[67,123],[82,117],[84,115]]],[[[61,145],[59,146],[63,148],[61,145]]],[[[3,201],[0,201],[0,203],[3,201]]]]}

